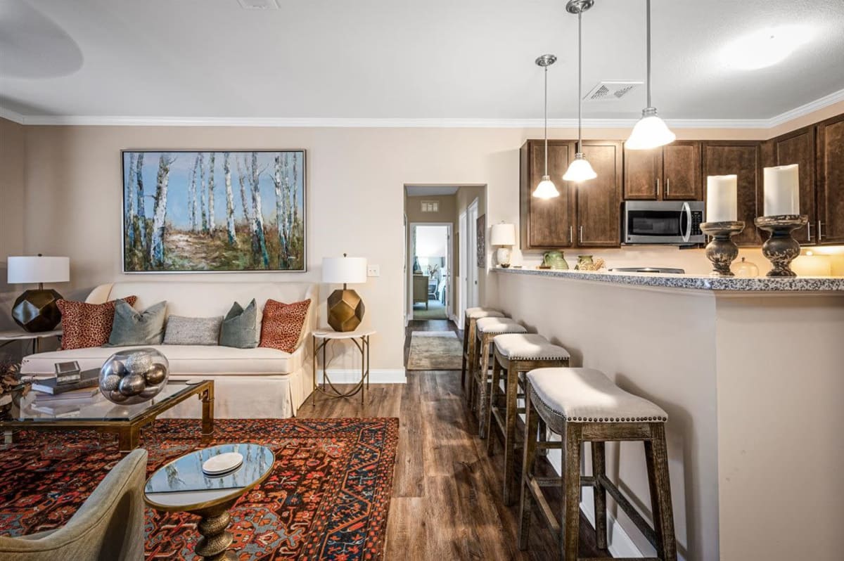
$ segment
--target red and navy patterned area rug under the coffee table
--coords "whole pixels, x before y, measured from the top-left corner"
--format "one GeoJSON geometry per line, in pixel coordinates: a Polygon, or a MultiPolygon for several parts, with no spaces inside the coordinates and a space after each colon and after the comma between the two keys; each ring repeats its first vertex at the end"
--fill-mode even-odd
{"type": "MultiPolygon", "coordinates": [[[[198,419],[160,419],[147,475],[200,444],[198,419]]],[[[0,533],[62,526],[120,460],[90,431],[20,433],[0,445],[0,533]]],[[[231,511],[232,548],[252,559],[381,559],[398,444],[397,418],[219,419],[208,445],[257,442],[273,472],[231,511]]],[[[142,443],[143,445],[143,443],[142,443]]],[[[147,559],[194,559],[198,518],[146,513],[147,559]]]]}

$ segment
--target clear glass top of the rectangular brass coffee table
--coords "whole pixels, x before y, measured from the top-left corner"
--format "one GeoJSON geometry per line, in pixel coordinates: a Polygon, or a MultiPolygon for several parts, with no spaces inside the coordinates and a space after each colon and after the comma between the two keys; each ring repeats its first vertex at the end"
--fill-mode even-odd
{"type": "Polygon", "coordinates": [[[13,407],[12,420],[16,421],[55,421],[57,419],[79,421],[131,421],[138,418],[152,407],[166,408],[167,402],[181,396],[186,391],[192,391],[197,384],[186,384],[184,381],[170,381],[157,396],[147,402],[135,405],[116,405],[97,393],[90,401],[62,405],[48,403],[39,405],[35,391],[24,397],[21,407],[13,407]]]}

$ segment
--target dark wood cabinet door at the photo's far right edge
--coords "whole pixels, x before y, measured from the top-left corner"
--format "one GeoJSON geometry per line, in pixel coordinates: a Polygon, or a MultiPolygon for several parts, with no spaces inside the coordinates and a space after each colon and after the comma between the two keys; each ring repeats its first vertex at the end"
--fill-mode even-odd
{"type": "MultiPolygon", "coordinates": [[[[844,243],[844,115],[818,125],[818,240],[844,243]]],[[[801,202],[802,204],[802,202],[801,202]]]]}

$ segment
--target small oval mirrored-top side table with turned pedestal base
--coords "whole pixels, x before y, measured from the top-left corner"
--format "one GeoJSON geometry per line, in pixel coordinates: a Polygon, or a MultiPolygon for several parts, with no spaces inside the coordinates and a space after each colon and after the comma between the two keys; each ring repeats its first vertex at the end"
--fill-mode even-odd
{"type": "Polygon", "coordinates": [[[155,470],[143,488],[143,498],[155,510],[189,512],[202,520],[194,552],[205,559],[235,559],[227,551],[232,542],[227,531],[229,509],[237,499],[267,478],[273,469],[273,450],[257,444],[225,444],[195,450],[155,470]],[[212,456],[238,452],[243,463],[233,472],[209,476],[203,463],[212,456]]]}

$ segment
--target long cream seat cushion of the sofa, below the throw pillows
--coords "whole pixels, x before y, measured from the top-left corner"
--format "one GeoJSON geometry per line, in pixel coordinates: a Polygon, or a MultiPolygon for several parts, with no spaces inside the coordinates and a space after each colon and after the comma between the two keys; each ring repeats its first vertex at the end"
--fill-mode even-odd
{"type": "MultiPolygon", "coordinates": [[[[149,348],[149,345],[146,346],[149,348]]],[[[126,347],[121,350],[126,350],[126,347]]],[[[208,347],[207,345],[152,345],[167,357],[173,375],[288,374],[301,366],[301,357],[274,348],[208,347]]],[[[30,354],[21,364],[25,375],[55,375],[55,364],[76,360],[79,368],[102,367],[115,348],[91,347],[30,354]]],[[[300,354],[300,353],[299,353],[300,354]]]]}

